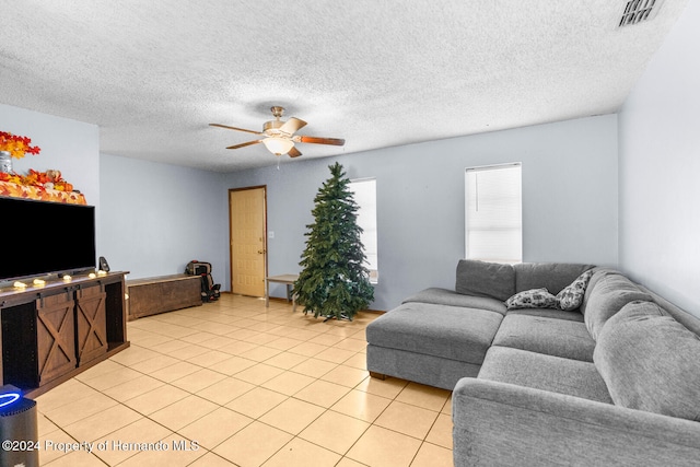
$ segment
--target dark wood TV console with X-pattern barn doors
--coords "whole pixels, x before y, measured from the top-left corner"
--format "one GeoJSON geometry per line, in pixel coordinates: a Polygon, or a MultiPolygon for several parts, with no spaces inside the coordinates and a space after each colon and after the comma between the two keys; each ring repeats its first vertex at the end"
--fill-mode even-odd
{"type": "Polygon", "coordinates": [[[128,348],[127,273],[0,289],[0,384],[35,397],[128,348]]]}

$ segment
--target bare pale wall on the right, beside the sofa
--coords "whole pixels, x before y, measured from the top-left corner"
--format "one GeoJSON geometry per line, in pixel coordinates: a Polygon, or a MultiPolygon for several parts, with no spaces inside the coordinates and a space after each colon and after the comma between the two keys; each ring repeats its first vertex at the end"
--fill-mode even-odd
{"type": "Polygon", "coordinates": [[[700,2],[619,115],[620,268],[700,316],[700,2]]]}

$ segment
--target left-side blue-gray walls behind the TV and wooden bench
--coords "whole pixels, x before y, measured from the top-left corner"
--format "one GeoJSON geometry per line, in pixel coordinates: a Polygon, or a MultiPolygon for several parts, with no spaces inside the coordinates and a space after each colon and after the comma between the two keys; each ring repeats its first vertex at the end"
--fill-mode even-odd
{"type": "MultiPolygon", "coordinates": [[[[0,129],[32,138],[38,155],[13,160],[19,173],[61,171],[96,210],[97,255],[129,279],[182,272],[190,259],[228,273],[224,176],[100,154],[96,125],[0,104],[0,129]]],[[[0,219],[1,219],[0,213],[0,219]]],[[[3,222],[4,219],[1,219],[3,222]]],[[[38,229],[51,226],[39,223],[38,229]]]]}

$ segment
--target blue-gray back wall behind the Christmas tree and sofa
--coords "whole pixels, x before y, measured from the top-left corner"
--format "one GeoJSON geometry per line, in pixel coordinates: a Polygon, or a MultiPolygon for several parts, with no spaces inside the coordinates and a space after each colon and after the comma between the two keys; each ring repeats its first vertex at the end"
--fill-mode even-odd
{"type": "MultiPolygon", "coordinates": [[[[465,253],[464,172],[469,166],[523,163],[524,261],[617,266],[615,115],[284,161],[279,170],[238,172],[224,183],[268,187],[268,231],[275,233],[268,240],[269,273],[299,272],[314,196],[329,177],[328,165],[339,161],[350,178],[377,180],[375,310],[390,310],[427,287],[454,287],[465,253]]],[[[272,294],[282,296],[283,290],[273,288],[272,294]]]]}

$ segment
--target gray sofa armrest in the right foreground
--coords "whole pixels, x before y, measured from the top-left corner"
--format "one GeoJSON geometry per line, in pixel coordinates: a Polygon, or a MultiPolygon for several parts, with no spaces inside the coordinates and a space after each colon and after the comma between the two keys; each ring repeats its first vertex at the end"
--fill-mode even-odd
{"type": "Polygon", "coordinates": [[[700,423],[488,380],[453,393],[455,466],[690,466],[700,423]]]}

